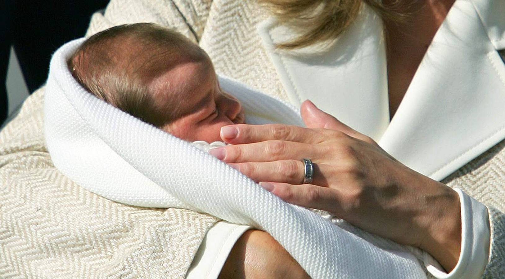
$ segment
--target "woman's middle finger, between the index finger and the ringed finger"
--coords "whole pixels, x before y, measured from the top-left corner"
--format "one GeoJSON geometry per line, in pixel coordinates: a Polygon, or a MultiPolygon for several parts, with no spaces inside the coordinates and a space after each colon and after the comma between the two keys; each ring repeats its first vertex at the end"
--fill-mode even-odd
{"type": "Polygon", "coordinates": [[[227,145],[209,151],[227,163],[268,162],[292,158],[315,159],[321,150],[317,145],[292,141],[268,140],[250,144],[227,145]]]}

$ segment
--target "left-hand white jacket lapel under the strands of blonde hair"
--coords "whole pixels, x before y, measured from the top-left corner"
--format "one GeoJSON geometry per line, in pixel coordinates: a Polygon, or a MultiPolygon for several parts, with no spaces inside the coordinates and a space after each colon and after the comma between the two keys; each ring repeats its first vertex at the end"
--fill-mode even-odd
{"type": "Polygon", "coordinates": [[[382,23],[363,9],[359,19],[325,51],[307,47],[277,51],[274,43],[292,34],[269,20],[258,31],[290,102],[311,99],[340,121],[375,139],[389,124],[382,23]]]}

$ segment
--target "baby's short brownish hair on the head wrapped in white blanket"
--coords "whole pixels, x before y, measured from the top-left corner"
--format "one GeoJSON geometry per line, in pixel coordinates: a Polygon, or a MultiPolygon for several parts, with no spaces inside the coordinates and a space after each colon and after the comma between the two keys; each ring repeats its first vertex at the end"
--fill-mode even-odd
{"type": "MultiPolygon", "coordinates": [[[[183,35],[153,24],[125,24],[94,34],[67,61],[90,93],[158,128],[179,117],[176,104],[161,105],[149,81],[181,60],[208,60],[183,35]]],[[[210,60],[209,60],[210,63],[210,60]]]]}

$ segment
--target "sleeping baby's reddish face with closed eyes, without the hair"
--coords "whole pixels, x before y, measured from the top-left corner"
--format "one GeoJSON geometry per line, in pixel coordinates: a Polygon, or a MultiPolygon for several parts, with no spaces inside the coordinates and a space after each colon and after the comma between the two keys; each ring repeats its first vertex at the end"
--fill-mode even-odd
{"type": "Polygon", "coordinates": [[[151,86],[160,102],[177,106],[180,117],[162,127],[176,137],[221,141],[221,127],[244,123],[242,106],[221,89],[210,61],[180,63],[155,78],[151,86]]]}

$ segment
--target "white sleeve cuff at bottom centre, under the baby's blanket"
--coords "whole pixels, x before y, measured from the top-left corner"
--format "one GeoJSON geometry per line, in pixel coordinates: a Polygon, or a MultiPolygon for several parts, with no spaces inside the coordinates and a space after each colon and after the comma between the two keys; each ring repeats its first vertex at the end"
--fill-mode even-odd
{"type": "Polygon", "coordinates": [[[186,279],[216,279],[230,254],[231,248],[250,226],[219,221],[201,242],[189,266],[186,279]]]}

